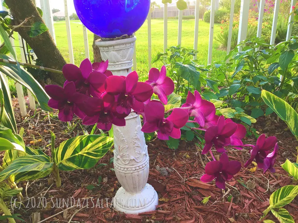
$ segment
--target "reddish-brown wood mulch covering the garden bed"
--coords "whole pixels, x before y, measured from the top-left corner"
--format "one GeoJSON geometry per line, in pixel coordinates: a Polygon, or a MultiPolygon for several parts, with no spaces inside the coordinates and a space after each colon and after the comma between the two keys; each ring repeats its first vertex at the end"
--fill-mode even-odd
{"type": "MultiPolygon", "coordinates": [[[[16,103],[15,103],[16,104],[16,103]]],[[[46,112],[40,109],[34,114],[34,111],[28,109],[30,115],[20,117],[19,110],[15,106],[15,113],[18,122],[18,128],[25,128],[24,140],[26,145],[31,147],[41,147],[49,154],[50,134],[52,130],[56,134],[56,146],[65,139],[83,134],[83,130],[91,131],[90,127],[80,126],[77,124],[73,129],[67,128],[67,123],[62,123],[55,117],[48,116],[46,112]],[[68,131],[66,131],[68,129],[68,131]]],[[[75,122],[77,123],[77,122],[75,122]]],[[[275,135],[279,141],[280,150],[275,165],[276,172],[266,172],[263,175],[261,169],[255,172],[249,172],[248,168],[241,168],[241,171],[228,183],[230,186],[225,191],[215,187],[214,182],[202,183],[200,177],[204,174],[202,162],[206,164],[207,158],[199,158],[194,142],[181,141],[177,150],[171,150],[166,143],[158,139],[148,143],[148,153],[150,156],[150,183],[158,192],[159,205],[156,211],[142,213],[139,215],[130,215],[119,213],[111,207],[111,201],[120,184],[111,165],[98,166],[100,163],[108,164],[113,153],[107,153],[96,165],[89,170],[77,170],[72,172],[60,172],[62,188],[56,189],[55,183],[49,187],[48,179],[29,181],[27,188],[28,197],[38,197],[40,193],[46,192],[46,201],[51,203],[51,199],[74,197],[75,200],[87,197],[103,199],[101,207],[72,208],[64,213],[60,213],[45,222],[68,222],[70,216],[75,214],[72,222],[259,222],[264,211],[269,204],[270,194],[276,189],[295,184],[288,174],[280,167],[280,164],[288,158],[296,161],[297,141],[290,131],[286,131],[286,125],[282,121],[266,120],[261,117],[255,123],[254,128],[261,134],[266,132],[269,135],[275,135]],[[264,129],[264,130],[263,130],[264,129]],[[158,166],[158,167],[157,167],[158,166]],[[167,176],[162,176],[159,168],[167,168],[167,176]],[[97,179],[102,176],[103,182],[101,188],[96,186],[97,179]],[[242,183],[242,184],[241,184],[242,183]],[[93,190],[86,189],[88,185],[96,186],[93,190]],[[204,197],[211,196],[209,202],[203,205],[201,201],[204,197]],[[108,205],[106,200],[108,199],[108,205]],[[230,201],[229,201],[230,199],[230,201]]],[[[244,142],[254,144],[256,139],[254,135],[246,137],[244,142]]],[[[242,164],[248,159],[249,154],[245,150],[229,150],[229,158],[238,160],[242,164]]],[[[3,155],[0,155],[2,160],[3,155]]],[[[211,158],[208,154],[208,158],[211,158]]],[[[162,169],[164,170],[164,169],[162,169]]],[[[27,182],[21,182],[20,186],[26,188],[27,182]]],[[[52,184],[52,182],[50,182],[52,184]]],[[[297,184],[297,182],[296,182],[297,184]]],[[[25,194],[25,191],[24,193],[25,194]]],[[[25,197],[25,196],[24,196],[25,197]]],[[[90,200],[89,200],[90,202],[90,200]]],[[[28,201],[27,201],[28,203],[28,201]]],[[[25,202],[25,205],[27,205],[25,202]]],[[[52,203],[51,203],[52,204],[52,203]]],[[[57,207],[58,206],[58,207],[57,207]]],[[[15,210],[14,213],[21,213],[27,222],[31,222],[31,213],[40,212],[41,220],[52,216],[66,209],[62,208],[62,200],[59,208],[51,206],[45,208],[24,208],[15,210]]],[[[92,207],[92,204],[89,206],[92,207]]],[[[295,222],[298,222],[298,199],[296,198],[290,205],[285,208],[291,213],[295,222]]],[[[266,219],[278,222],[276,218],[269,213],[266,219]]]]}

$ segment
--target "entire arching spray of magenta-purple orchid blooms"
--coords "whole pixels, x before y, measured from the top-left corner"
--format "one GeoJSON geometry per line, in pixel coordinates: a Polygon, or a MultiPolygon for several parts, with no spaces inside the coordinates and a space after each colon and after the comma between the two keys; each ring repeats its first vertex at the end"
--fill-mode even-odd
{"type": "Polygon", "coordinates": [[[273,166],[278,151],[276,137],[266,138],[263,134],[256,145],[243,145],[246,128],[229,118],[216,115],[214,104],[203,99],[197,90],[188,92],[186,102],[181,107],[166,111],[167,96],[173,93],[175,86],[173,80],[166,76],[164,66],[160,71],[152,68],[145,82],[139,82],[136,71],[126,77],[114,76],[107,67],[108,61],[91,64],[89,59],[83,60],[80,67],[67,64],[63,67],[66,78],[64,87],[45,87],[51,97],[48,105],[59,110],[61,121],[68,122],[75,114],[84,125],[96,124],[97,128],[108,131],[113,124],[125,126],[125,117],[136,112],[143,117],[141,130],[144,133],[157,132],[161,140],[169,140],[170,137],[180,139],[182,127],[189,128],[198,136],[204,133],[202,154],[210,153],[213,161],[206,165],[206,173],[201,180],[210,182],[215,179],[216,186],[221,189],[225,189],[225,182],[241,168],[240,162],[229,161],[228,148],[251,149],[251,157],[245,167],[255,160],[264,172],[275,171],[273,166]],[[152,99],[157,97],[159,100],[152,99]],[[192,128],[187,123],[196,123],[198,128],[192,128]],[[219,160],[213,156],[212,148],[221,153],[219,160]]]}

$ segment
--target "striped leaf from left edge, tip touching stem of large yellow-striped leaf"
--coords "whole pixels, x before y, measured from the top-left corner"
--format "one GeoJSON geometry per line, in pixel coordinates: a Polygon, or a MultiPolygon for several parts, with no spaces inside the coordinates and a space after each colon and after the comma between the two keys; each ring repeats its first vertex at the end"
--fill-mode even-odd
{"type": "Polygon", "coordinates": [[[0,181],[8,176],[28,171],[48,171],[53,166],[49,156],[20,156],[0,172],[0,181]]]}

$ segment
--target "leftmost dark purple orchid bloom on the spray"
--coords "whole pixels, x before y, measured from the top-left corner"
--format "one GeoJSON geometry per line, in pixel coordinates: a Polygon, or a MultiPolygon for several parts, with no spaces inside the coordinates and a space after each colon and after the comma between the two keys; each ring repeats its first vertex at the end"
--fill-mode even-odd
{"type": "Polygon", "coordinates": [[[71,121],[74,114],[81,119],[85,117],[86,114],[76,105],[76,103],[80,103],[84,98],[82,94],[76,92],[73,81],[66,83],[64,88],[58,85],[46,85],[44,88],[46,93],[51,97],[48,102],[49,107],[59,110],[59,120],[62,122],[71,121]]]}

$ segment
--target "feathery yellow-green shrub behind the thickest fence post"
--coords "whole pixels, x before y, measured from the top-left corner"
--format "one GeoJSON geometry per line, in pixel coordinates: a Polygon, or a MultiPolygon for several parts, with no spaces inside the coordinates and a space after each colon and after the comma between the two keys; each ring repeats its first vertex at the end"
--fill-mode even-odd
{"type": "MultiPolygon", "coordinates": [[[[232,40],[231,40],[231,49],[234,49],[237,45],[238,41],[238,31],[239,26],[236,25],[233,27],[232,30],[232,40]]],[[[257,35],[257,26],[248,26],[247,29],[247,39],[251,39],[252,37],[257,35]]],[[[215,37],[215,40],[217,40],[221,46],[226,49],[228,45],[228,36],[229,36],[229,25],[221,26],[221,32],[215,37]]]]}

